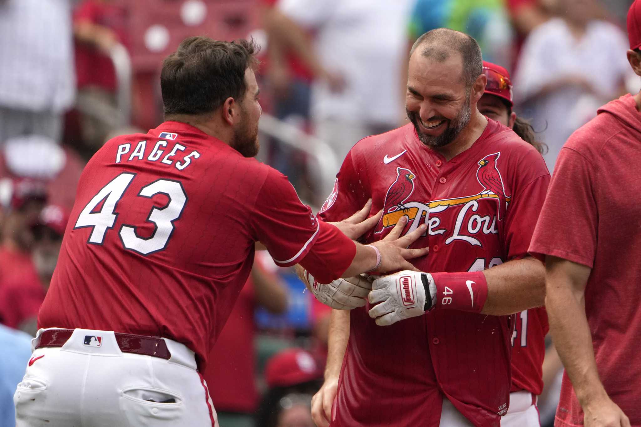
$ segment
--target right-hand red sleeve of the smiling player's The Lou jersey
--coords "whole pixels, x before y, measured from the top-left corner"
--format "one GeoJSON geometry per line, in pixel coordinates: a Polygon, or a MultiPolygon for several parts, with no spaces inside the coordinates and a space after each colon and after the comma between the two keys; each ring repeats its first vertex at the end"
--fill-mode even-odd
{"type": "MultiPolygon", "coordinates": [[[[519,259],[528,255],[528,248],[537,219],[545,201],[550,175],[538,152],[530,152],[523,163],[534,165],[533,173],[522,173],[515,188],[505,218],[505,248],[508,259],[519,259]]],[[[519,168],[522,166],[519,165],[519,168]]]]}

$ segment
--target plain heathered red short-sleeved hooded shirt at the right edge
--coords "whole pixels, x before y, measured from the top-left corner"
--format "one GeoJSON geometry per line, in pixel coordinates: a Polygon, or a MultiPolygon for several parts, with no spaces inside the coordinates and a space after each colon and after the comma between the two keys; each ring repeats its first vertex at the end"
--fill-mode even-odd
{"type": "MultiPolygon", "coordinates": [[[[592,268],[585,314],[606,392],[641,426],[641,113],[631,95],[601,107],[561,150],[529,251],[592,268]]],[[[583,425],[563,375],[556,426],[583,425]]]]}

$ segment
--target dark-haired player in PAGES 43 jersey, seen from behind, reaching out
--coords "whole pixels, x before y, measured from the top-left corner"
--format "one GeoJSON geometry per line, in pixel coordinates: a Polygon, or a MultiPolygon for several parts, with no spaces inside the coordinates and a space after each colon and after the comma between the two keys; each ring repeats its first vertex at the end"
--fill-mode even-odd
{"type": "MultiPolygon", "coordinates": [[[[108,141],[89,161],[15,394],[17,426],[213,424],[197,369],[256,241],[277,264],[300,262],[328,281],[427,253],[405,248],[423,230],[353,243],[284,175],[248,158],[262,113],[254,49],[185,40],[163,63],[167,121],[108,141]]],[[[375,220],[339,226],[356,238],[375,220]]]]}

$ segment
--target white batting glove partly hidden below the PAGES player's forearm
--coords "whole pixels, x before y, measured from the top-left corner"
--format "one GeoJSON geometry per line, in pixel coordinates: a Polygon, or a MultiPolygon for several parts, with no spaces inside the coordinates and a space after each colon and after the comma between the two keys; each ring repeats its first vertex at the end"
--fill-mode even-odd
{"type": "Polygon", "coordinates": [[[337,310],[351,310],[365,305],[365,298],[372,290],[372,284],[364,276],[339,278],[329,284],[320,284],[307,270],[305,280],[312,287],[317,300],[337,310]]]}

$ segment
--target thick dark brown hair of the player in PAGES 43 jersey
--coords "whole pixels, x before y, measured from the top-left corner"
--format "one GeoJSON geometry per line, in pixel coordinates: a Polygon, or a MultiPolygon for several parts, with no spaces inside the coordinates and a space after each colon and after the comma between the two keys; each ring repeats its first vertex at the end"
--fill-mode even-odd
{"type": "Polygon", "coordinates": [[[256,68],[258,46],[253,40],[222,42],[198,36],[183,40],[165,58],[160,88],[165,116],[211,113],[229,97],[242,102],[245,71],[256,68]]]}

